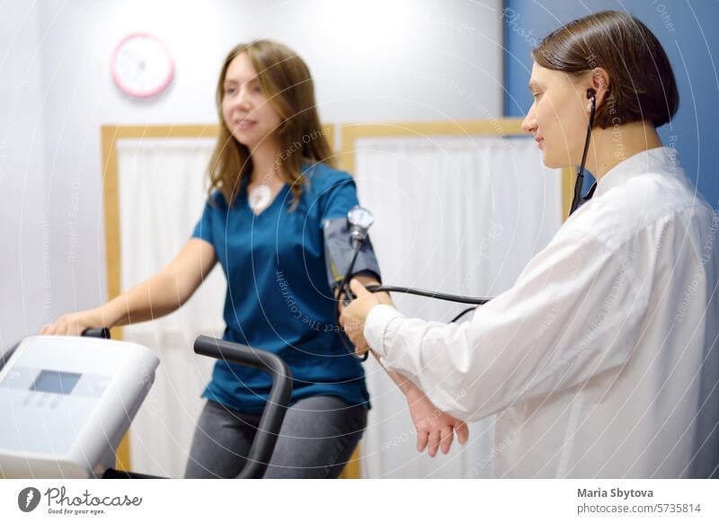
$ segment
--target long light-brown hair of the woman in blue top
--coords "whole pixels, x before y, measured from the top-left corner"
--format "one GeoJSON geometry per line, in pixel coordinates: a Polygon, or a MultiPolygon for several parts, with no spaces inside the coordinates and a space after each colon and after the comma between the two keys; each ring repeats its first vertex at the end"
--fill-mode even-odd
{"type": "Polygon", "coordinates": [[[212,193],[219,191],[229,205],[234,205],[241,182],[252,172],[250,149],[232,136],[222,117],[227,68],[242,53],[247,53],[262,93],[280,116],[281,123],[273,131],[280,147],[275,168],[289,183],[294,205],[302,193],[302,164],[323,162],[333,166],[333,152],[320,124],[309,68],[295,51],[272,40],[235,46],[220,70],[216,92],[219,136],[208,167],[209,201],[213,201],[212,193]]]}

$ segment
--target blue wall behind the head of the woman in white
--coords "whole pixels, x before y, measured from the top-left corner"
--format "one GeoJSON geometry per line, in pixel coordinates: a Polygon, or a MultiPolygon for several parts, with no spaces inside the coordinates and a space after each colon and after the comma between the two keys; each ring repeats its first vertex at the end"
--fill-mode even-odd
{"type": "Polygon", "coordinates": [[[679,84],[679,112],[659,134],[676,146],[679,163],[714,208],[719,208],[719,2],[702,0],[506,0],[504,113],[523,116],[532,103],[527,84],[531,49],[565,22],[605,9],[628,11],[661,41],[679,84]]]}

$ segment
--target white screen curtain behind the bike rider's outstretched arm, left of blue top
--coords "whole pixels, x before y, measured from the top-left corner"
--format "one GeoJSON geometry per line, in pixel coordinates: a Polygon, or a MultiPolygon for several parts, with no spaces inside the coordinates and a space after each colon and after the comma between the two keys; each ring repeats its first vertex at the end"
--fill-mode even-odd
{"type": "MultiPolygon", "coordinates": [[[[210,139],[118,142],[122,291],[160,270],[190,239],[205,202],[204,173],[213,146],[210,139]]],[[[126,340],[156,350],[161,359],[155,386],[130,430],[136,472],[184,474],[214,361],[196,356],[192,343],[199,334],[221,335],[225,289],[216,268],[177,312],[124,329],[126,340]]]]}

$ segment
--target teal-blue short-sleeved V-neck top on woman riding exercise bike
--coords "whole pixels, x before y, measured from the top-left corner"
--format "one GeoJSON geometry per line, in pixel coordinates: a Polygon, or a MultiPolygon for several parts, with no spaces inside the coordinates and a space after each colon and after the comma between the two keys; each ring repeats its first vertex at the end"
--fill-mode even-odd
{"type": "MultiPolygon", "coordinates": [[[[192,236],[212,244],[227,280],[223,338],[270,350],[294,380],[291,403],[314,395],[368,405],[364,370],[342,345],[327,282],[323,221],[358,205],[351,176],[325,164],[306,169],[293,206],[286,183],[255,215],[246,182],[232,207],[220,192],[205,205],[192,236]]],[[[217,361],[203,397],[242,412],[262,412],[271,377],[217,361]]],[[[368,405],[369,406],[369,405],[368,405]]]]}

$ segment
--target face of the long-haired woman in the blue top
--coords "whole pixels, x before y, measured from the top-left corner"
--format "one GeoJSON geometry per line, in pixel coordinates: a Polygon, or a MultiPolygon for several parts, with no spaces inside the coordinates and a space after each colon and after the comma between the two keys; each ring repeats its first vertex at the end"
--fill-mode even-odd
{"type": "Polygon", "coordinates": [[[258,145],[280,125],[280,115],[262,93],[247,53],[230,62],[223,88],[222,118],[232,136],[244,146],[258,145]]]}

